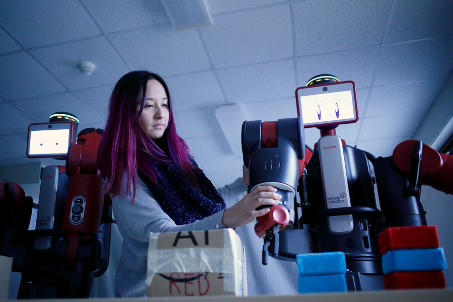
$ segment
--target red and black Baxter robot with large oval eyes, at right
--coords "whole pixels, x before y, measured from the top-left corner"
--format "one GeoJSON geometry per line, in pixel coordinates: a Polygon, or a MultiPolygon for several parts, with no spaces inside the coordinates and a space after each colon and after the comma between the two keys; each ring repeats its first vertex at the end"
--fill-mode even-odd
{"type": "Polygon", "coordinates": [[[264,238],[263,264],[268,255],[295,261],[297,254],[344,252],[348,290],[383,289],[378,235],[427,224],[421,185],[451,194],[453,158],[416,140],[400,143],[388,158],[346,145],[335,128],[359,118],[352,81],[321,74],[295,95],[296,118],[242,127],[250,188],[269,184],[283,196],[255,225],[264,238]],[[321,132],[314,149],[305,144],[309,127],[321,132]]]}

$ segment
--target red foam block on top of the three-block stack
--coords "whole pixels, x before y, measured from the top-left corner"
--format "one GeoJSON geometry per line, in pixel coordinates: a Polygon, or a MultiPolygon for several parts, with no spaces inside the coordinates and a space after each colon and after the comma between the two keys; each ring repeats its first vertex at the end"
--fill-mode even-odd
{"type": "Polygon", "coordinates": [[[378,236],[378,244],[384,255],[393,250],[438,248],[439,237],[435,226],[403,226],[384,230],[378,236]]]}

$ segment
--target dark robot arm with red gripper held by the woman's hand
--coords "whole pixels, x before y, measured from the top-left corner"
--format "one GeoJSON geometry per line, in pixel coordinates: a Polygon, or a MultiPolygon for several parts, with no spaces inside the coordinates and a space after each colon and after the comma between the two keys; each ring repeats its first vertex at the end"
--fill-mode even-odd
{"type": "Polygon", "coordinates": [[[279,205],[258,217],[255,233],[264,238],[263,264],[267,252],[278,255],[278,232],[294,223],[297,183],[308,160],[304,125],[300,117],[278,121],[245,121],[242,126],[244,165],[249,169],[250,187],[271,185],[283,196],[279,205]]]}

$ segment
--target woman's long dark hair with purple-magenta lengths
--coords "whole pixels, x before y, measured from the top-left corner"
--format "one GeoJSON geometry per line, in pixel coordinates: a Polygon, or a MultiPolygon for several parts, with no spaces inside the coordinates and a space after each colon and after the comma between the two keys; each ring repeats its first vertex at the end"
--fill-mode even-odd
{"type": "Polygon", "coordinates": [[[149,160],[174,163],[186,179],[198,189],[195,174],[200,170],[192,165],[189,156],[186,142],[176,133],[172,102],[165,81],[160,75],[148,71],[131,71],[123,75],[110,97],[109,115],[98,149],[99,170],[107,179],[107,192],[112,197],[120,194],[123,177],[126,174],[125,191],[132,196],[133,202],[137,169],[159,186],[153,166],[148,164],[149,160]],[[153,79],[164,86],[167,94],[170,117],[164,139],[167,141],[169,154],[150,139],[139,124],[145,103],[146,84],[153,79]],[[133,188],[130,186],[131,183],[133,188]]]}

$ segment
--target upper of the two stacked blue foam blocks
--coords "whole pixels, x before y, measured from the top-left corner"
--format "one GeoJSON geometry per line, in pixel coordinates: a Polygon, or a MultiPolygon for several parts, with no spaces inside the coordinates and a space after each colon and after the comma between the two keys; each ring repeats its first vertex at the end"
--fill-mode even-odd
{"type": "Polygon", "coordinates": [[[300,254],[296,256],[296,261],[299,276],[346,273],[343,252],[300,254]]]}

